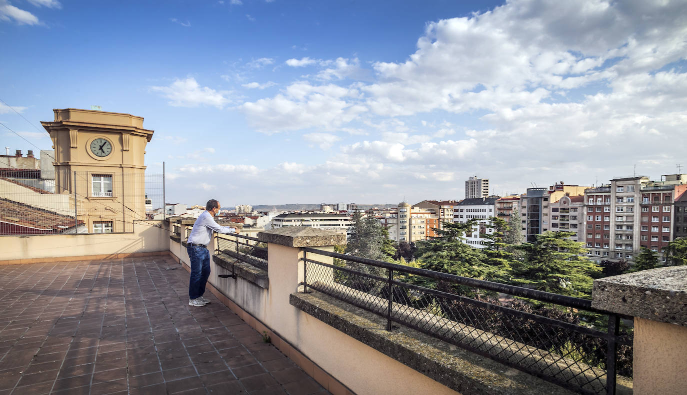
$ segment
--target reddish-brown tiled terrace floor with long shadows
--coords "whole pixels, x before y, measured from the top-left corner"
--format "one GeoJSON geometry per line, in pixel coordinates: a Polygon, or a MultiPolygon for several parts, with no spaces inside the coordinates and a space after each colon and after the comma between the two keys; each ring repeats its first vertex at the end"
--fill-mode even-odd
{"type": "Polygon", "coordinates": [[[166,256],[0,266],[0,395],[328,394],[166,256]]]}

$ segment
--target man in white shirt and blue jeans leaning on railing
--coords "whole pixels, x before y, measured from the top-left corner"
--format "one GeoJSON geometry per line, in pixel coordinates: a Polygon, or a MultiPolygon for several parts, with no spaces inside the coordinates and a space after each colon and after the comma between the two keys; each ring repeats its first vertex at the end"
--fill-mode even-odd
{"type": "Polygon", "coordinates": [[[207,278],[210,277],[210,252],[207,251],[207,244],[212,239],[212,232],[238,235],[236,226],[220,226],[215,222],[214,216],[219,213],[219,207],[218,201],[214,199],[207,201],[205,211],[196,219],[186,241],[186,251],[191,261],[191,276],[188,280],[189,306],[201,307],[210,303],[203,294],[205,294],[207,278]]]}

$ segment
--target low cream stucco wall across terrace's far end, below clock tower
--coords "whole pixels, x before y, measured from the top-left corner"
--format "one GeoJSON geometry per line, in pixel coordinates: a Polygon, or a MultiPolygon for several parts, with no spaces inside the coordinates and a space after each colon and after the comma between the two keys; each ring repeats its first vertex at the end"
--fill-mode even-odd
{"type": "Polygon", "coordinates": [[[153,221],[134,222],[132,233],[0,236],[0,262],[170,250],[168,231],[154,224],[153,221]]]}

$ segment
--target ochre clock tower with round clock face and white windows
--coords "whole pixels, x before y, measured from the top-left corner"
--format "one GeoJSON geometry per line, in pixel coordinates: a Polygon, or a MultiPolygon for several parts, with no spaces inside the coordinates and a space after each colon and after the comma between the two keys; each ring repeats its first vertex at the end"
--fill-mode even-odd
{"type": "Polygon", "coordinates": [[[135,219],[146,219],[144,154],[153,130],[119,112],[53,111],[55,120],[41,124],[55,149],[56,193],[75,195],[88,232],[132,232],[135,219]]]}

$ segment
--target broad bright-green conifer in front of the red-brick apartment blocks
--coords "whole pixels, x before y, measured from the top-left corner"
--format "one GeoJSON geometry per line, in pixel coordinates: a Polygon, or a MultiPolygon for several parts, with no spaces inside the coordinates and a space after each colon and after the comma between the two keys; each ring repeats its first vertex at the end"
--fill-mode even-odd
{"type": "Polygon", "coordinates": [[[592,275],[600,272],[589,261],[583,243],[568,239],[574,232],[543,232],[534,243],[517,248],[523,259],[513,261],[513,282],[519,285],[578,298],[592,293],[592,275]]]}

